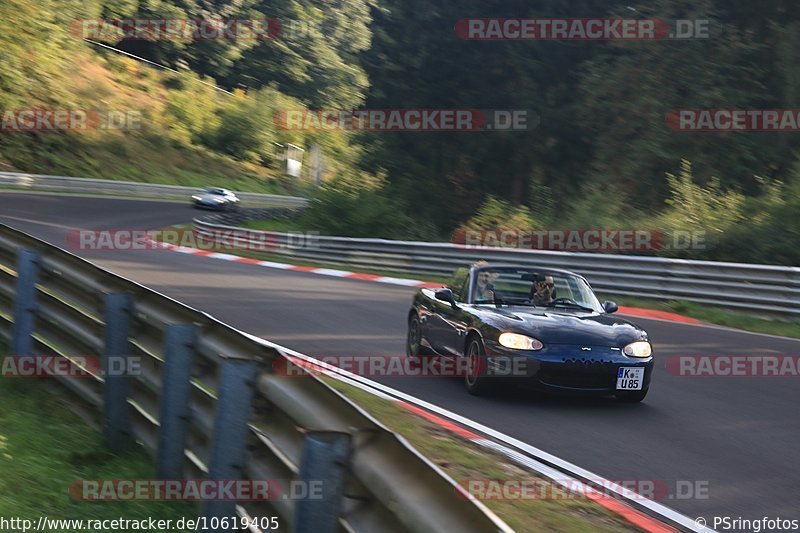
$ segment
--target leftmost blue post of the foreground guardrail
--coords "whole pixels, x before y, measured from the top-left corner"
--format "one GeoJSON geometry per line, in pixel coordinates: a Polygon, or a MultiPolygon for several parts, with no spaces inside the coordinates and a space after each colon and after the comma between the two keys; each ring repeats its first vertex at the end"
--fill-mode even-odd
{"type": "Polygon", "coordinates": [[[34,355],[33,327],[36,323],[36,278],[39,253],[21,249],[17,257],[17,283],[14,288],[14,329],[11,355],[34,355]]]}

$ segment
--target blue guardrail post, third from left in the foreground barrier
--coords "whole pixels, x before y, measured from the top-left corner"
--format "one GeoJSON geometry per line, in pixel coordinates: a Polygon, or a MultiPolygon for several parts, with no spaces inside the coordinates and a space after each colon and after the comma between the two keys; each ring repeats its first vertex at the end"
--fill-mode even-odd
{"type": "Polygon", "coordinates": [[[169,326],[164,341],[164,382],[158,418],[159,479],[183,479],[183,451],[189,422],[189,392],[192,378],[192,345],[197,326],[169,326]]]}

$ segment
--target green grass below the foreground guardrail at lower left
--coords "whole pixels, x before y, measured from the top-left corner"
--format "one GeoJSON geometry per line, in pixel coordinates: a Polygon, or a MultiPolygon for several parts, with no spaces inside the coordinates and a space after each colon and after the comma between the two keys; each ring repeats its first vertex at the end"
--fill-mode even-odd
{"type": "MultiPolygon", "coordinates": [[[[7,351],[0,346],[0,357],[7,351]]],[[[197,516],[199,506],[192,502],[97,502],[70,496],[68,487],[81,479],[148,479],[153,459],[140,446],[111,453],[102,432],[76,414],[72,397],[58,390],[38,379],[0,380],[0,401],[14,406],[0,412],[0,516],[40,513],[52,519],[109,521],[158,517],[173,523],[197,516]]]]}

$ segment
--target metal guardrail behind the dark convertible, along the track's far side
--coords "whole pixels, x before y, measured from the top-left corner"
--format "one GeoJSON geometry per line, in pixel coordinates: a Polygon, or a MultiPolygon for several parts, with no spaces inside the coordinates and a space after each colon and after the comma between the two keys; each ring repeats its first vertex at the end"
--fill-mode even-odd
{"type": "Polygon", "coordinates": [[[554,252],[509,248],[470,248],[442,242],[315,236],[259,232],[229,226],[216,216],[195,219],[205,239],[263,247],[293,259],[449,276],[477,260],[562,268],[583,275],[604,294],[660,300],[688,300],[730,309],[800,315],[800,268],[665,257],[554,252]]]}

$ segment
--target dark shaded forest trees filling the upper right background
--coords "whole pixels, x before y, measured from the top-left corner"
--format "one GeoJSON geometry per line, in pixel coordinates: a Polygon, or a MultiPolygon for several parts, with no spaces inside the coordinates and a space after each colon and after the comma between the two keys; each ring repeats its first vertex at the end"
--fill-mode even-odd
{"type": "Polygon", "coordinates": [[[759,187],[754,176],[788,180],[800,153],[797,136],[687,133],[670,128],[665,117],[684,108],[794,107],[800,96],[798,5],[579,4],[466,0],[432,9],[422,0],[381,2],[364,56],[370,106],[530,109],[540,122],[531,134],[375,134],[370,168],[385,168],[388,187],[404,200],[416,199],[424,184],[430,194],[416,208],[443,229],[461,225],[487,195],[526,204],[550,226],[622,227],[640,219],[650,226],[672,194],[665,174],[679,174],[682,158],[699,175],[719,176],[721,188],[750,196],[759,187]],[[701,19],[709,21],[711,35],[535,44],[455,37],[453,21],[477,11],[484,17],[575,17],[583,11],[701,19]],[[535,186],[526,187],[530,182],[535,186]],[[539,187],[551,193],[544,208],[539,187]]]}

